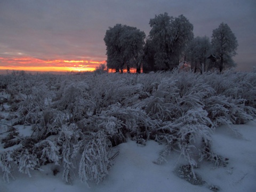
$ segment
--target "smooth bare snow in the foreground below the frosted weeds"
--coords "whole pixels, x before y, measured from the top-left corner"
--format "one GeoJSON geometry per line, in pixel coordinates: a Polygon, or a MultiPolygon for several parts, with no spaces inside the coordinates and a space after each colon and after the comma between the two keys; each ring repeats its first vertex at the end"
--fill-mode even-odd
{"type": "MultiPolygon", "coordinates": [[[[225,158],[229,158],[226,167],[214,168],[210,162],[202,162],[195,172],[202,177],[205,184],[191,185],[179,178],[174,170],[182,163],[178,153],[171,153],[167,162],[162,165],[153,163],[164,148],[155,141],[148,141],[146,146],[128,140],[118,145],[119,155],[115,158],[107,178],[96,185],[81,183],[78,178],[73,185],[63,181],[62,174],[53,175],[57,165],[42,166],[43,171],[30,171],[31,178],[15,172],[15,180],[5,183],[0,179],[1,192],[30,191],[212,191],[216,186],[220,191],[256,191],[256,120],[244,125],[233,125],[241,133],[236,137],[227,126],[218,127],[213,133],[213,150],[225,158]]],[[[21,131],[21,130],[19,130],[21,131]]]]}

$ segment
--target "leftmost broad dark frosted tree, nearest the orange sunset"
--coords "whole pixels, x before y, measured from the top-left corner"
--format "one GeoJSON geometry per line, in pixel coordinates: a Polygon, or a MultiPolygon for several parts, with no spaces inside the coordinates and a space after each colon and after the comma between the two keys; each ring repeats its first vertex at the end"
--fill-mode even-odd
{"type": "Polygon", "coordinates": [[[136,67],[140,72],[143,56],[143,45],[146,35],[136,27],[117,24],[109,27],[104,38],[107,46],[107,67],[121,71],[126,66],[136,67]]]}

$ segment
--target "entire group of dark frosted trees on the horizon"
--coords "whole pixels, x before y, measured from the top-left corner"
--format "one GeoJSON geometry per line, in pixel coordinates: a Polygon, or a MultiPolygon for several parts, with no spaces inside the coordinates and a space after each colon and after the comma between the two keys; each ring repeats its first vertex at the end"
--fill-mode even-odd
{"type": "Polygon", "coordinates": [[[167,13],[155,15],[149,20],[149,25],[151,30],[147,38],[136,27],[122,24],[109,27],[104,37],[109,69],[121,70],[122,73],[127,67],[129,73],[132,67],[140,73],[143,63],[145,72],[172,70],[184,58],[195,72],[199,68],[202,73],[211,54],[216,58],[220,72],[235,66],[232,57],[237,54],[237,39],[223,22],[213,30],[211,42],[207,36],[194,38],[194,27],[184,15],[176,18],[167,13]]]}

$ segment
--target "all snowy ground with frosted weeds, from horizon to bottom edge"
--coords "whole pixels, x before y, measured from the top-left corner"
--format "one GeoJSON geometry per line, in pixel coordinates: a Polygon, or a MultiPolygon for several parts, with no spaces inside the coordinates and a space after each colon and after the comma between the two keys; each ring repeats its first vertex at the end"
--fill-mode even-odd
{"type": "Polygon", "coordinates": [[[256,136],[255,71],[12,73],[0,76],[0,89],[1,191],[24,185],[20,173],[49,183],[47,191],[65,191],[61,182],[67,191],[236,191],[220,183],[233,178],[243,156],[254,172],[233,179],[247,178],[243,189],[253,189],[256,148],[244,151],[241,140],[256,136]],[[220,182],[210,172],[229,175],[220,182]],[[134,181],[140,184],[127,186],[134,181]]]}

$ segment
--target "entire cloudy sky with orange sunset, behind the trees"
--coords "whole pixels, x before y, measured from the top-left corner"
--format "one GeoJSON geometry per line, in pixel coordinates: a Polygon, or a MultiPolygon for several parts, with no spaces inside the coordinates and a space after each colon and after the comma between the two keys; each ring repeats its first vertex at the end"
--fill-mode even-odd
{"type": "Polygon", "coordinates": [[[155,15],[183,14],[194,36],[227,23],[238,71],[256,67],[255,0],[0,0],[0,70],[93,70],[107,59],[103,38],[117,23],[148,36],[155,15]]]}

